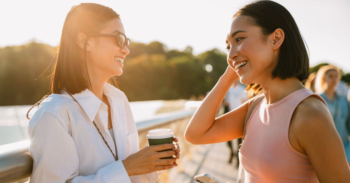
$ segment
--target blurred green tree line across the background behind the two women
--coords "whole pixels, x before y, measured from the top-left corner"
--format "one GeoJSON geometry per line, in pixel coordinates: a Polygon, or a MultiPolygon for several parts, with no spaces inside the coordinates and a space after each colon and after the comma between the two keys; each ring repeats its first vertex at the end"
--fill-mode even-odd
{"type": "MultiPolygon", "coordinates": [[[[0,106],[31,105],[48,94],[56,52],[57,47],[34,41],[0,48],[0,106]]],[[[116,78],[130,101],[188,99],[210,91],[226,67],[226,53],[218,49],[194,55],[191,47],[131,43],[123,75],[116,78]]],[[[350,82],[350,73],[342,79],[350,82]]]]}

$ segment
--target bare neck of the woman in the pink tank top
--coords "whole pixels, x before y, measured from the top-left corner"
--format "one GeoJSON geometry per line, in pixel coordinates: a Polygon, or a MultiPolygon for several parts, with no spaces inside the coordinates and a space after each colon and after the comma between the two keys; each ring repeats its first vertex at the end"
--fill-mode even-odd
{"type": "Polygon", "coordinates": [[[274,78],[273,80],[267,79],[267,82],[260,84],[264,89],[264,95],[267,104],[273,104],[296,90],[305,88],[297,78],[280,79],[274,78]]]}

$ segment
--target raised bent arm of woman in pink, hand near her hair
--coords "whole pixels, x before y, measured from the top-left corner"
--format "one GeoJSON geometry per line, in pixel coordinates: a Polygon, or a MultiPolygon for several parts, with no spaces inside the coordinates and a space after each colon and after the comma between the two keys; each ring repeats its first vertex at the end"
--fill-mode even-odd
{"type": "Polygon", "coordinates": [[[251,100],[215,119],[226,92],[237,79],[236,71],[228,67],[190,120],[185,131],[188,142],[210,144],[243,136],[244,119],[251,100]]]}

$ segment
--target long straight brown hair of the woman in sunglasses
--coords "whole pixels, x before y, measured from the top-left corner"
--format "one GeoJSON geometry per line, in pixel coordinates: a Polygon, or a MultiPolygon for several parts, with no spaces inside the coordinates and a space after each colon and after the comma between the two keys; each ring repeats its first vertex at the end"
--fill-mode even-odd
{"type": "Polygon", "coordinates": [[[51,93],[60,94],[64,89],[71,94],[90,89],[86,65],[86,42],[84,49],[77,45],[78,33],[98,33],[119,15],[112,9],[96,3],[80,3],[68,12],[62,28],[57,60],[51,74],[51,93]]]}

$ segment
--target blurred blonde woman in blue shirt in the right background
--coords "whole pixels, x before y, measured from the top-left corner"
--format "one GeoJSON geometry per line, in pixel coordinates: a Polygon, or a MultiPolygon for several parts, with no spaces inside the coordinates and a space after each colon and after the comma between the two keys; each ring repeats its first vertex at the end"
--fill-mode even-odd
{"type": "Polygon", "coordinates": [[[336,91],[341,77],[339,68],[332,65],[323,66],[317,71],[315,89],[327,103],[335,128],[342,139],[346,159],[350,162],[350,107],[346,97],[336,91]]]}

